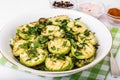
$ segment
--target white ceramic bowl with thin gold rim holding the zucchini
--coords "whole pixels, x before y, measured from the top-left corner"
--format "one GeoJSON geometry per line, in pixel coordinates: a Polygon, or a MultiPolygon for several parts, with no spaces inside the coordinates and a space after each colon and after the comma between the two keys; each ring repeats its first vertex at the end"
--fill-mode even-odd
{"type": "Polygon", "coordinates": [[[71,75],[86,69],[89,69],[100,62],[104,57],[109,53],[111,46],[112,46],[112,37],[109,30],[105,27],[103,23],[91,17],[87,14],[73,11],[73,10],[66,10],[66,9],[49,9],[44,10],[41,12],[31,12],[31,14],[23,14],[16,19],[11,20],[6,25],[3,26],[4,28],[0,31],[0,51],[2,55],[13,65],[16,65],[22,71],[29,71],[37,75],[42,76],[49,76],[49,77],[59,77],[59,76],[67,76],[71,75]],[[95,32],[95,36],[98,39],[99,47],[97,50],[96,58],[93,62],[88,65],[85,65],[81,68],[69,70],[69,71],[62,71],[62,72],[50,72],[50,71],[40,71],[28,68],[22,64],[20,64],[13,56],[11,52],[11,48],[9,46],[10,39],[13,38],[16,34],[16,27],[21,24],[26,24],[32,21],[38,20],[40,17],[53,17],[56,15],[68,15],[70,18],[75,19],[81,17],[81,21],[83,21],[88,28],[95,32]]]}

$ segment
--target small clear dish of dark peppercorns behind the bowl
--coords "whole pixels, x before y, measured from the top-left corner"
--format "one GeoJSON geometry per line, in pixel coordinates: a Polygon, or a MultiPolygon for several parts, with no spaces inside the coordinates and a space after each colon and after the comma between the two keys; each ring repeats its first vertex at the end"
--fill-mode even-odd
{"type": "Polygon", "coordinates": [[[74,9],[75,7],[74,0],[50,0],[50,4],[53,8],[74,9]]]}

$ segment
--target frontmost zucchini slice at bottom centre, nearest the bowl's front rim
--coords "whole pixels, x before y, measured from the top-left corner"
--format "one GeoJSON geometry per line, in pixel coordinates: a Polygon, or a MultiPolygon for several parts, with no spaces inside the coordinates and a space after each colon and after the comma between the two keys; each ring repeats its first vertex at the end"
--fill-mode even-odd
{"type": "Polygon", "coordinates": [[[50,71],[65,71],[73,68],[72,59],[65,56],[65,59],[58,59],[56,57],[47,57],[45,66],[50,71]]]}

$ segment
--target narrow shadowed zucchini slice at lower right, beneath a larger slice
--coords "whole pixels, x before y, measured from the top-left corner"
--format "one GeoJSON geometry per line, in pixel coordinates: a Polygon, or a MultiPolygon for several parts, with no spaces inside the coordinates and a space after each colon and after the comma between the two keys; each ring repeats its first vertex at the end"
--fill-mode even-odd
{"type": "Polygon", "coordinates": [[[90,58],[88,58],[88,59],[80,59],[80,60],[78,60],[76,63],[75,63],[75,65],[77,66],[77,67],[82,67],[82,66],[84,66],[84,65],[86,65],[86,64],[89,64],[90,62],[92,62],[94,60],[94,56],[92,56],[92,57],[90,57],[90,58]]]}

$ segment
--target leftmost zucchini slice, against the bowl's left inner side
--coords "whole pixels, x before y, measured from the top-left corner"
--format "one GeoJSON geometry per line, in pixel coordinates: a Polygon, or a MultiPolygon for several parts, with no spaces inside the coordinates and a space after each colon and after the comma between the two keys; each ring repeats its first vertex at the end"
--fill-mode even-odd
{"type": "Polygon", "coordinates": [[[13,43],[13,55],[14,56],[19,56],[21,53],[25,52],[25,49],[20,47],[20,45],[24,43],[26,43],[25,40],[18,40],[13,43]]]}

